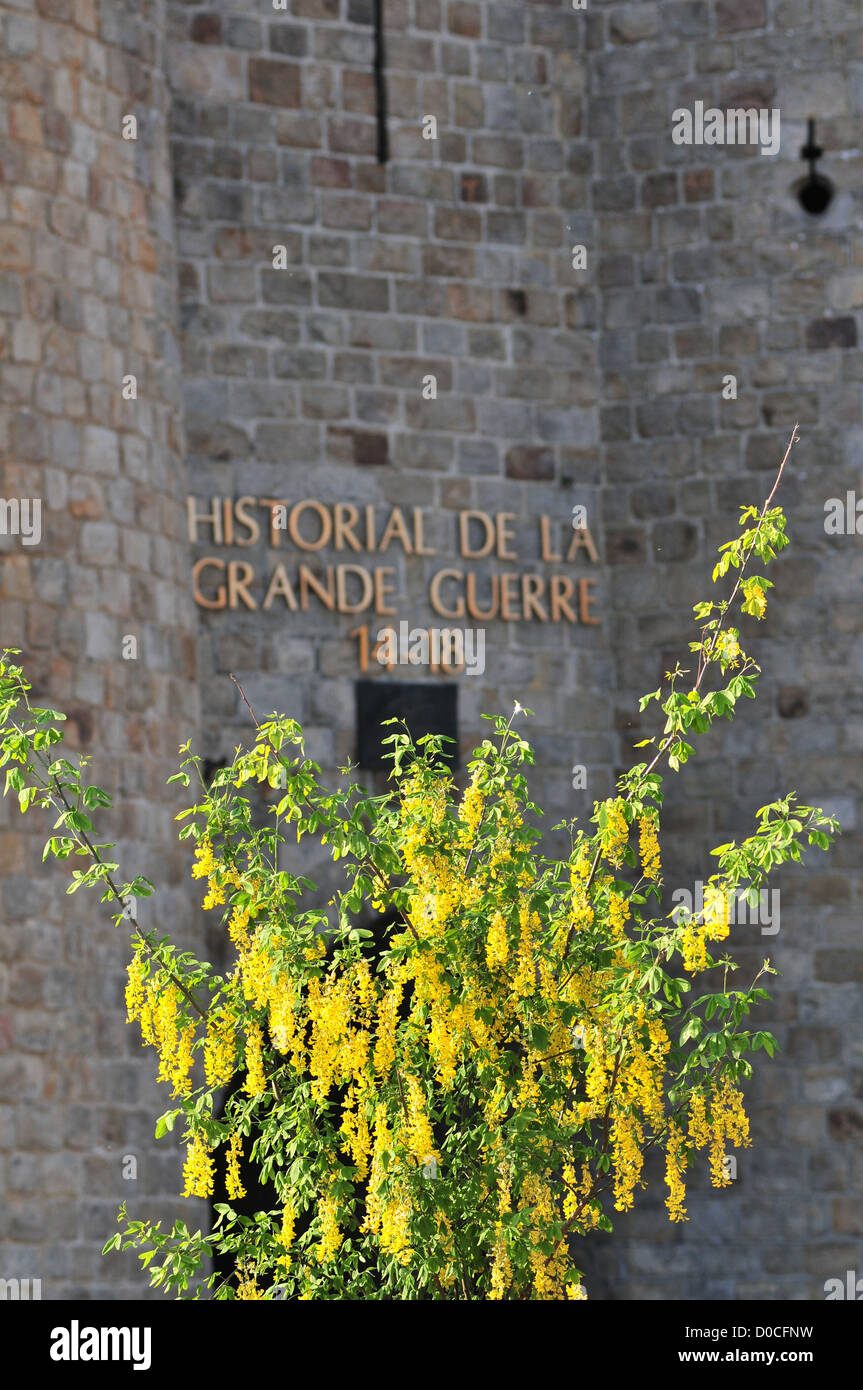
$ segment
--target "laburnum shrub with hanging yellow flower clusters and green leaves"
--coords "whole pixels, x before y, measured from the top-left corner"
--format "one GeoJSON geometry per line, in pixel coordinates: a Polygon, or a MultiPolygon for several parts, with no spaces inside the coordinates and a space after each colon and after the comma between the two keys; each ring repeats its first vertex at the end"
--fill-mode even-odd
{"type": "MultiPolygon", "coordinates": [[[[677,770],[692,734],[755,694],[757,666],[728,619],[735,602],[764,614],[770,584],[748,571],[787,543],[770,500],[743,509],[721,549],[714,580],[739,571],[732,595],[695,609],[695,671],[668,673],[664,696],[641,702],[664,714],[639,745],[650,762],[620,778],[588,827],[568,827],[568,858],[539,848],[518,706],[492,719],[461,794],[442,739],[414,746],[397,727],[392,792],[378,796],[327,790],[286,717],[256,720],[253,746],[208,787],[181,749],[171,780],[197,791],[179,834],[232,963],[218,974],[135,927],[128,1016],[171,1090],[157,1136],[185,1127],[183,1194],[213,1194],[221,1150],[228,1201],[207,1234],[124,1209],[106,1250],[138,1248],[153,1284],[176,1297],[580,1300],[578,1237],[632,1207],[649,1150],[664,1151],[673,1222],[687,1219],[699,1151],[727,1186],[727,1150],[750,1141],[748,1054],[774,1049],[742,1026],[767,997],[760,976],[730,988],[734,962],[714,954],[728,903],[757,895],[806,845],[825,849],[837,826],[794,795],[763,806],[748,840],[713,851],[703,910],[663,916],[657,767],[677,770]],[[263,826],[250,784],[278,788],[263,826]],[[314,885],[290,870],[304,835],[345,870],[327,906],[310,905],[314,885]],[[370,910],[389,926],[361,926],[370,910]],[[692,991],[717,965],[721,988],[692,991]],[[253,1216],[232,1205],[249,1162],[275,1193],[253,1216]],[[229,1261],[227,1277],[208,1273],[213,1255],[229,1261]]],[[[82,780],[85,759],[56,756],[63,716],[31,705],[13,655],[0,681],[6,791],[22,810],[58,812],[46,856],[88,860],[68,891],[101,885],[129,923],[131,898],[153,885],[117,881],[90,819],[110,798],[82,780]]]]}

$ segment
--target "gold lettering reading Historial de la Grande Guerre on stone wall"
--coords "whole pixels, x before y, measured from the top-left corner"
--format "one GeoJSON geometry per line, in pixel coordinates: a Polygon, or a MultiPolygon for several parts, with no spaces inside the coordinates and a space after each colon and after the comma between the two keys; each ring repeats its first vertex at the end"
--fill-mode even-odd
{"type": "MultiPolygon", "coordinates": [[[[596,578],[577,573],[585,563],[599,563],[589,528],[575,528],[568,517],[538,517],[531,525],[536,528],[534,555],[539,560],[520,569],[517,520],[511,512],[474,509],[452,516],[452,553],[468,567],[442,567],[431,574],[427,596],[432,612],[446,623],[468,619],[596,627],[600,621],[595,614],[596,578]],[[484,563],[472,569],[477,562],[484,563]],[[498,569],[499,562],[504,567],[498,569]]],[[[264,538],[271,550],[282,550],[283,557],[265,570],[249,560],[215,555],[196,560],[195,602],[214,612],[283,607],[290,613],[395,617],[396,567],[363,563],[361,557],[389,557],[393,550],[414,559],[438,555],[428,543],[431,527],[422,507],[364,505],[360,509],[350,502],[327,503],[314,498],[215,496],[203,502],[189,496],[186,524],[189,542],[196,546],[249,548],[264,538]],[[293,563],[285,556],[289,549],[295,552],[293,563]],[[327,563],[318,552],[329,552],[335,563],[327,563]]],[[[352,635],[361,635],[360,660],[367,669],[375,653],[374,631],[370,637],[367,624],[352,635]]]]}

